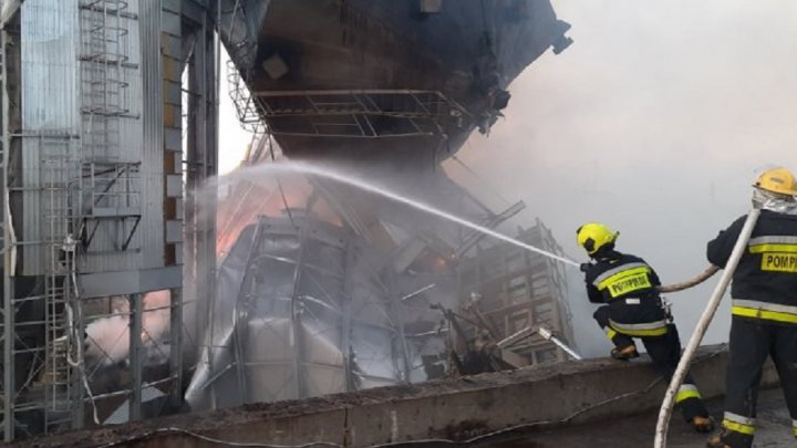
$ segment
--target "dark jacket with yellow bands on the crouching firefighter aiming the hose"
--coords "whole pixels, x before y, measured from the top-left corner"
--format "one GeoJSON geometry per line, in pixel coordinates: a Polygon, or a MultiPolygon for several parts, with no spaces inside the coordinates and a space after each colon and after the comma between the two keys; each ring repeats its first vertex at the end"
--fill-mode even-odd
{"type": "Polygon", "coordinates": [[[592,303],[608,303],[610,325],[630,336],[666,333],[666,313],[655,291],[659,275],[639,257],[610,251],[587,264],[587,294],[592,303]]]}

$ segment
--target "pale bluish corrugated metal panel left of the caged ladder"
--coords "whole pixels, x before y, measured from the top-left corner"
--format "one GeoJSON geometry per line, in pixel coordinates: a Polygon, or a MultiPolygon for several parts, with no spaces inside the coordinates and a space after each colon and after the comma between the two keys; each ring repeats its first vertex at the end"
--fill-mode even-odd
{"type": "MultiPolygon", "coordinates": [[[[43,273],[46,238],[42,175],[55,173],[56,159],[74,159],[79,150],[80,97],[77,0],[29,0],[21,10],[22,65],[22,210],[20,241],[24,244],[23,274],[43,273]],[[52,160],[44,160],[44,153],[52,160]],[[55,154],[59,153],[59,154],[55,154]]],[[[74,167],[72,167],[74,168],[74,167]]],[[[63,180],[63,179],[59,179],[63,180]]]]}

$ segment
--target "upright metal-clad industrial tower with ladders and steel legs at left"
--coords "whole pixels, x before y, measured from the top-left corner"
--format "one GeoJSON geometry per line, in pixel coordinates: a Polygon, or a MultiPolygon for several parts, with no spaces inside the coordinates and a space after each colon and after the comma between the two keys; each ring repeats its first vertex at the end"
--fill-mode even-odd
{"type": "Polygon", "coordinates": [[[209,4],[1,7],[3,436],[178,408],[169,329],[215,265],[192,197],[216,166],[209,4]]]}

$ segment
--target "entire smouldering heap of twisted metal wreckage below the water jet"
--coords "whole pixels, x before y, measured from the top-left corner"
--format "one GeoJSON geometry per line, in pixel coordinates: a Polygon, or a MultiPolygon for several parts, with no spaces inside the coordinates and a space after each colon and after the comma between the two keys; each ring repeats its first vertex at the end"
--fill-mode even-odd
{"type": "MultiPolygon", "coordinates": [[[[281,157],[271,136],[253,148],[250,154],[281,157]]],[[[511,290],[511,300],[496,295],[497,302],[480,304],[490,321],[484,327],[500,319],[508,326],[493,337],[544,325],[572,340],[561,267],[329,179],[273,179],[269,162],[228,176],[221,187],[227,199],[218,210],[218,290],[186,394],[193,409],[476,373],[460,367],[472,355],[463,343],[476,335],[452,319],[460,308],[474,312],[458,296],[472,290],[504,294],[504,281],[517,288],[518,278],[522,294],[511,290]],[[457,281],[465,278],[476,283],[457,281]],[[506,306],[496,310],[501,301],[506,306]],[[525,321],[511,319],[524,312],[525,321]]],[[[445,192],[426,195],[441,208],[441,197],[457,195],[457,215],[475,221],[499,223],[522,208],[520,202],[491,213],[443,173],[417,180],[445,192]]],[[[539,221],[521,239],[561,253],[539,221]]],[[[531,341],[519,353],[504,351],[499,357],[510,361],[498,368],[565,360],[551,342],[531,341]]]]}

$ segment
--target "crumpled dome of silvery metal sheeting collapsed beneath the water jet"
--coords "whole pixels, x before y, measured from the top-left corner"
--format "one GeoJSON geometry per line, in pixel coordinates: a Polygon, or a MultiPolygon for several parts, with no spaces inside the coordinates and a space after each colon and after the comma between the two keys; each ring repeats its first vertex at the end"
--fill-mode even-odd
{"type": "Polygon", "coordinates": [[[261,218],[219,267],[193,410],[425,379],[374,268],[384,257],[342,228],[292,220],[261,218]]]}

